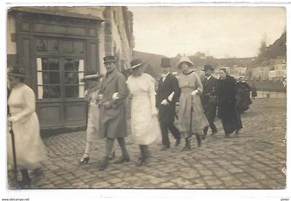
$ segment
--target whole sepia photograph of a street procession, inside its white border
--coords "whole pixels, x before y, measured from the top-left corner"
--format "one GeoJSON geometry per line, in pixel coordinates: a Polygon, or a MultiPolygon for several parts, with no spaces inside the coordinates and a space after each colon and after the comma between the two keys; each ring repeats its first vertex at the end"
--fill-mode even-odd
{"type": "Polygon", "coordinates": [[[284,6],[6,17],[10,191],[286,188],[284,6]]]}

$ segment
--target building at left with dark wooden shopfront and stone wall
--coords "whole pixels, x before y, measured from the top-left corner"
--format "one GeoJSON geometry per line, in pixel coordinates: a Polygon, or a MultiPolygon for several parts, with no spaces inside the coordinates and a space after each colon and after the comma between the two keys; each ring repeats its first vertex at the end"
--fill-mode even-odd
{"type": "Polygon", "coordinates": [[[134,39],[126,7],[15,7],[8,10],[8,67],[26,69],[41,128],[86,123],[86,74],[105,73],[103,57],[130,66],[134,39]]]}

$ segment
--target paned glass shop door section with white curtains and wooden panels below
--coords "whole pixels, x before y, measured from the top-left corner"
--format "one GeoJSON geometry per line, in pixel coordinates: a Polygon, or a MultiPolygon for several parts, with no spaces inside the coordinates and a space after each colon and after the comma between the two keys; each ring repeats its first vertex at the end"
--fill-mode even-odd
{"type": "Polygon", "coordinates": [[[42,128],[85,125],[85,87],[80,82],[86,66],[85,42],[37,38],[36,52],[37,113],[42,128]]]}

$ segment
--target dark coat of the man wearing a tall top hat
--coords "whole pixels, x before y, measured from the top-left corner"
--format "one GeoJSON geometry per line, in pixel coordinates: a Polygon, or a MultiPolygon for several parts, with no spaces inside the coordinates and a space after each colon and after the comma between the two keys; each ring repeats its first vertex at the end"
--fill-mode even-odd
{"type": "Polygon", "coordinates": [[[163,123],[174,122],[176,113],[176,102],[179,100],[181,89],[179,88],[178,80],[171,73],[159,80],[159,87],[157,89],[156,107],[159,109],[159,121],[163,123]],[[168,96],[175,92],[173,100],[169,101],[168,96]],[[161,105],[161,101],[166,99],[169,105],[161,105]]]}

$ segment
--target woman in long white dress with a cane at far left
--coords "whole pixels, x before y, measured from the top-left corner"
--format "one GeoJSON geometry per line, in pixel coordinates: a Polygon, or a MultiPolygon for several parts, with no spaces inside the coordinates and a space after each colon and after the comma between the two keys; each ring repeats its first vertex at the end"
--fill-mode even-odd
{"type": "MultiPolygon", "coordinates": [[[[28,169],[39,167],[39,161],[46,159],[46,148],[39,134],[39,121],[35,113],[35,94],[24,82],[25,71],[21,67],[8,69],[11,93],[8,98],[10,117],[8,123],[15,134],[17,168],[22,180],[19,186],[30,186],[28,169]]],[[[8,165],[12,166],[11,136],[8,134],[8,165]]],[[[8,167],[9,167],[8,166],[8,167]]]]}

